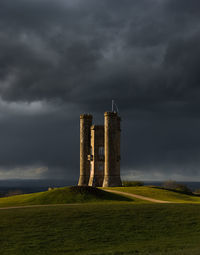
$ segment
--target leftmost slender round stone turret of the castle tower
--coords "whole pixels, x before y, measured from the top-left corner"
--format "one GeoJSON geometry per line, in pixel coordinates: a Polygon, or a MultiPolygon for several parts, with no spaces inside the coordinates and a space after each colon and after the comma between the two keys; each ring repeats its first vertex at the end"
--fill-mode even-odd
{"type": "Polygon", "coordinates": [[[90,128],[92,126],[92,115],[80,115],[80,177],[79,186],[87,186],[90,178],[90,128]]]}

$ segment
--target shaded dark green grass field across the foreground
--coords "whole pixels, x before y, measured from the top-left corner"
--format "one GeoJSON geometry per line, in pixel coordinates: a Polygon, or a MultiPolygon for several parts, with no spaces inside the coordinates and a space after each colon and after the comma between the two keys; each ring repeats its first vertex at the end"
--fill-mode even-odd
{"type": "Polygon", "coordinates": [[[198,255],[198,204],[81,204],[0,210],[1,255],[198,255]]]}

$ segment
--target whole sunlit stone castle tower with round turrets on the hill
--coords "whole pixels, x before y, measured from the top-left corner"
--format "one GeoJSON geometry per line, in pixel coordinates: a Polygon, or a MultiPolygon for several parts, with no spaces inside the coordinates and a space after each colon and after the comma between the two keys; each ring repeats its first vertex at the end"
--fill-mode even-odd
{"type": "Polygon", "coordinates": [[[79,186],[121,186],[120,121],[116,112],[105,112],[104,126],[92,125],[92,115],[80,115],[79,186]]]}

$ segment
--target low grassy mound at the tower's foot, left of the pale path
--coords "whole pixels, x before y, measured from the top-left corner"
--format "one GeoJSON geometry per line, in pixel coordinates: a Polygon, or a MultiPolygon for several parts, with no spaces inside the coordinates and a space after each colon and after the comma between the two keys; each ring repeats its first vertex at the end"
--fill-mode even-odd
{"type": "Polygon", "coordinates": [[[0,207],[114,201],[133,200],[92,187],[64,187],[51,191],[0,198],[0,207]]]}

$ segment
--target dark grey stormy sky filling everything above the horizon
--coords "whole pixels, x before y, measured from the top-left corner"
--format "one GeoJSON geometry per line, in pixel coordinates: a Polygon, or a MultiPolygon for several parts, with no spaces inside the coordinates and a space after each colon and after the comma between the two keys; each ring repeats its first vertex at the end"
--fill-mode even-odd
{"type": "Polygon", "coordinates": [[[112,99],[124,179],[200,181],[200,1],[0,1],[0,179],[76,182],[112,99]]]}

